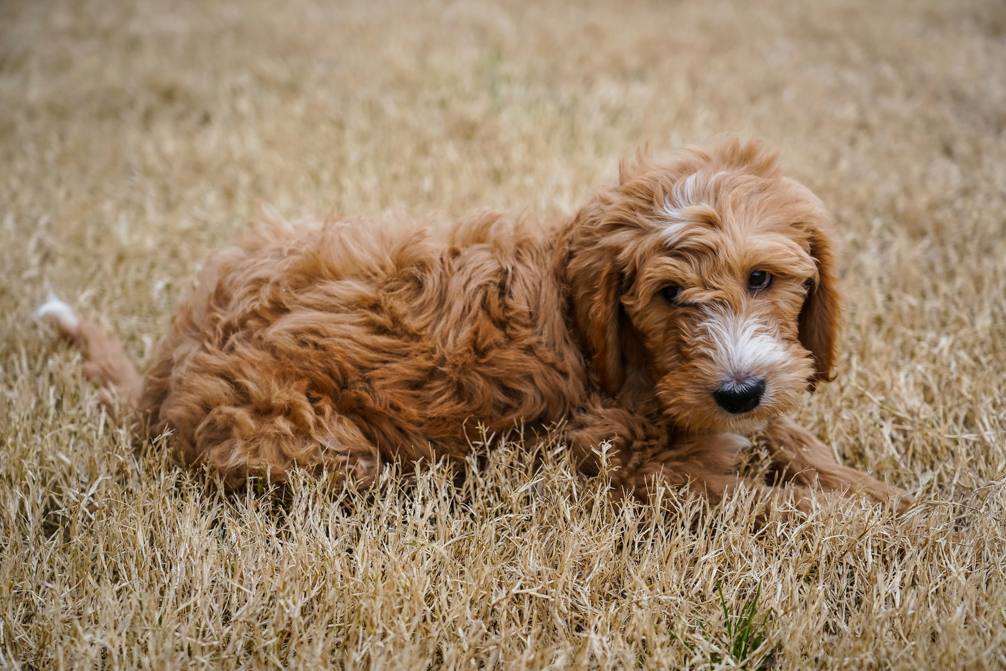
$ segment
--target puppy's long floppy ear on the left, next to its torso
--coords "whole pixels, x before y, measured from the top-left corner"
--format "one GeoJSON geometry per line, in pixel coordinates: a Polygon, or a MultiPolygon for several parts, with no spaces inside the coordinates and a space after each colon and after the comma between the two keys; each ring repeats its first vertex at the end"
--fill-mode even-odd
{"type": "Polygon", "coordinates": [[[576,217],[567,243],[566,277],[583,345],[593,357],[601,386],[615,396],[625,381],[619,337],[622,273],[595,215],[586,208],[576,217]]]}

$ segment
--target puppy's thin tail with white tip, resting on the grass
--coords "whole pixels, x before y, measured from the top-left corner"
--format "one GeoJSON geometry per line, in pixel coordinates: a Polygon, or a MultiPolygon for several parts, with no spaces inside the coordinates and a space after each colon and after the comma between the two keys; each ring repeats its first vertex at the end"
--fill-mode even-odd
{"type": "Polygon", "coordinates": [[[49,291],[48,298],[35,310],[36,318],[52,317],[59,334],[80,351],[85,377],[99,385],[99,398],[110,414],[115,414],[116,392],[127,395],[136,409],[143,390],[143,378],[130,361],[122,343],[96,323],[81,319],[76,311],[49,291]]]}

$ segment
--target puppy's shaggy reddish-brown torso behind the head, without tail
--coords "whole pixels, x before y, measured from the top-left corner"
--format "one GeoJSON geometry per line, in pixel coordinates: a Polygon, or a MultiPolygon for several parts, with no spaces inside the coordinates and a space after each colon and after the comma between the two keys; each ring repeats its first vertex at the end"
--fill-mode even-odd
{"type": "Polygon", "coordinates": [[[366,481],[381,457],[463,456],[466,426],[599,402],[554,241],[491,215],[375,224],[278,224],[211,256],[147,375],[152,432],[233,484],[293,463],[366,481]]]}

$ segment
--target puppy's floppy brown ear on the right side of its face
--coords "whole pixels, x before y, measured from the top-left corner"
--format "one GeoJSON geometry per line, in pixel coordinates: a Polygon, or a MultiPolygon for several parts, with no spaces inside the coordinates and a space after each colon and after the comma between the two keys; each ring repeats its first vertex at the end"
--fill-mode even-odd
{"type": "Polygon", "coordinates": [[[814,375],[807,381],[811,391],[819,382],[835,379],[835,340],[838,332],[840,304],[835,278],[835,246],[828,234],[817,225],[810,230],[810,252],[817,264],[817,281],[811,286],[800,310],[800,344],[814,355],[814,375]]]}

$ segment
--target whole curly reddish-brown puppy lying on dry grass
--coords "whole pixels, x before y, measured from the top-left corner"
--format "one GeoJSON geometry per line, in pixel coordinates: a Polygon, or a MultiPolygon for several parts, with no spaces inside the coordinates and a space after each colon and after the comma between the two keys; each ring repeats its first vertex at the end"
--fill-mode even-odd
{"type": "MultiPolygon", "coordinates": [[[[835,461],[783,413],[832,379],[839,295],[830,218],[758,143],[623,163],[567,221],[477,213],[449,230],[337,218],[268,223],[212,254],[140,376],[58,299],[105,399],[165,429],[234,488],[294,467],[366,486],[384,459],[463,457],[466,421],[557,424],[616,493],[719,501],[761,429],[779,479],[904,510],[902,490],[835,461]],[[474,421],[473,421],[474,420],[474,421]]],[[[780,490],[746,483],[767,503],[780,490]]]]}

